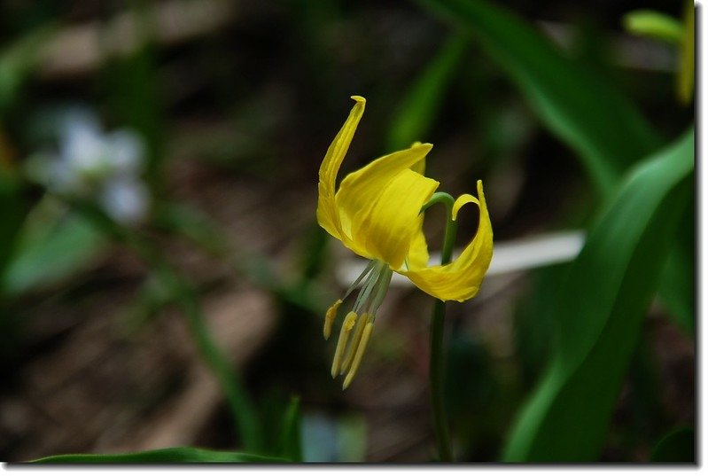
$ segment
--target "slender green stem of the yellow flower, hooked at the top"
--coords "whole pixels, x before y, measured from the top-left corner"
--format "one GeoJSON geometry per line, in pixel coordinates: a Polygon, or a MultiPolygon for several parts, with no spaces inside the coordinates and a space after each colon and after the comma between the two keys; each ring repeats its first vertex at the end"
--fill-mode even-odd
{"type": "MultiPolygon", "coordinates": [[[[447,264],[452,260],[452,251],[457,235],[457,222],[452,219],[452,207],[455,199],[444,192],[433,194],[432,199],[423,207],[424,211],[433,203],[443,203],[446,209],[445,238],[443,239],[440,264],[447,264]]],[[[445,387],[445,353],[443,336],[445,331],[445,301],[435,300],[432,308],[431,321],[431,354],[430,354],[430,380],[432,399],[432,418],[435,424],[435,439],[438,443],[440,461],[452,461],[452,446],[450,433],[447,427],[447,411],[443,400],[445,387]]]]}

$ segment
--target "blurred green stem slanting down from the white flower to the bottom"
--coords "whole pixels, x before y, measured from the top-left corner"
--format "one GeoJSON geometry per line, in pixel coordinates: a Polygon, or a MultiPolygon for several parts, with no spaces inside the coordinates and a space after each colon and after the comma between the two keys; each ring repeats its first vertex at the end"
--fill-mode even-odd
{"type": "Polygon", "coordinates": [[[199,354],[214,373],[222,391],[226,394],[244,449],[247,451],[263,450],[261,425],[256,418],[253,402],[246,394],[238,372],[233,369],[229,360],[216,346],[209,334],[198,296],[191,284],[159,253],[157,248],[135,231],[113,222],[110,217],[92,204],[71,199],[66,201],[69,201],[74,209],[86,216],[110,238],[135,251],[148,263],[159,280],[167,287],[172,300],[182,310],[199,354]]]}

